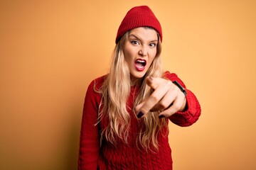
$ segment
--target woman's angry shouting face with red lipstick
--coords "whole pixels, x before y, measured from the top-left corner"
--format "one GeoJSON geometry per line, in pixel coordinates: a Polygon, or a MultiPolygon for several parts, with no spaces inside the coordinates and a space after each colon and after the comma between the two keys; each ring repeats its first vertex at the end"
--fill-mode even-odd
{"type": "Polygon", "coordinates": [[[124,59],[128,64],[132,79],[144,77],[157,49],[157,32],[151,28],[134,28],[124,42],[124,59]]]}

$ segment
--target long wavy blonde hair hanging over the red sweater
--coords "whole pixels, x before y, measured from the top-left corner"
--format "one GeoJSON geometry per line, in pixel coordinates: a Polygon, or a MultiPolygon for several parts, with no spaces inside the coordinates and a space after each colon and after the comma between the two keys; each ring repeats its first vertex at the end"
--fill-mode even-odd
{"type": "MultiPolygon", "coordinates": [[[[98,121],[100,122],[104,116],[107,116],[109,120],[107,127],[102,130],[101,135],[113,145],[117,144],[116,137],[119,137],[127,144],[129,143],[130,115],[127,111],[127,98],[132,84],[129,67],[124,60],[123,53],[124,43],[127,41],[128,36],[129,31],[122,36],[115,46],[112,55],[112,63],[110,65],[110,72],[99,91],[102,94],[102,103],[100,105],[102,106],[102,109],[99,109],[98,121]]],[[[141,87],[139,89],[139,94],[134,101],[134,106],[141,103],[146,95],[149,95],[150,93],[150,88],[146,85],[145,77],[161,77],[163,74],[160,61],[161,40],[159,35],[158,39],[156,57],[154,57],[154,60],[144,77],[137,82],[141,87]]],[[[158,149],[159,144],[157,135],[159,134],[160,129],[167,125],[166,120],[160,120],[159,113],[146,114],[141,119],[144,126],[137,136],[137,144],[140,144],[144,149],[150,149],[151,145],[158,149]]]]}

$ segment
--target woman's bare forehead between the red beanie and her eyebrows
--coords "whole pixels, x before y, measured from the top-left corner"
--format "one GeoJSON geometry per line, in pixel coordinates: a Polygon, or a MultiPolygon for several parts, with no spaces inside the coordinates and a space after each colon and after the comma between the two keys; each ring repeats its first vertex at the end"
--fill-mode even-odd
{"type": "Polygon", "coordinates": [[[154,28],[139,27],[130,30],[129,37],[136,37],[144,41],[157,41],[157,32],[154,28]]]}

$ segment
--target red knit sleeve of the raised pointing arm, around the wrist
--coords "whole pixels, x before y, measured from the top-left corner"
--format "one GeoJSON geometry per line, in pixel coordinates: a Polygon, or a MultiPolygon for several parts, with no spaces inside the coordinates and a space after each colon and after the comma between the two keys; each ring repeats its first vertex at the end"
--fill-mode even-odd
{"type": "MultiPolygon", "coordinates": [[[[178,78],[176,74],[165,72],[164,77],[170,79],[171,81],[178,81],[178,83],[186,89],[185,84],[183,81],[181,81],[181,79],[178,78]]],[[[196,96],[188,89],[186,89],[186,93],[186,111],[178,111],[169,117],[169,120],[171,120],[172,123],[183,127],[196,123],[201,115],[201,106],[196,96]]]]}

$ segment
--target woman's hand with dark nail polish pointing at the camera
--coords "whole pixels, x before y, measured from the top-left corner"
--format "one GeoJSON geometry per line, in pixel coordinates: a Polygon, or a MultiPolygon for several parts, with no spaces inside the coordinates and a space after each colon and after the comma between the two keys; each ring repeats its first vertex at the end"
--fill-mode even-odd
{"type": "Polygon", "coordinates": [[[153,93],[136,106],[135,111],[138,118],[149,113],[149,111],[160,111],[159,118],[167,118],[177,111],[184,111],[186,96],[170,80],[146,77],[146,84],[153,89],[153,93]]]}

